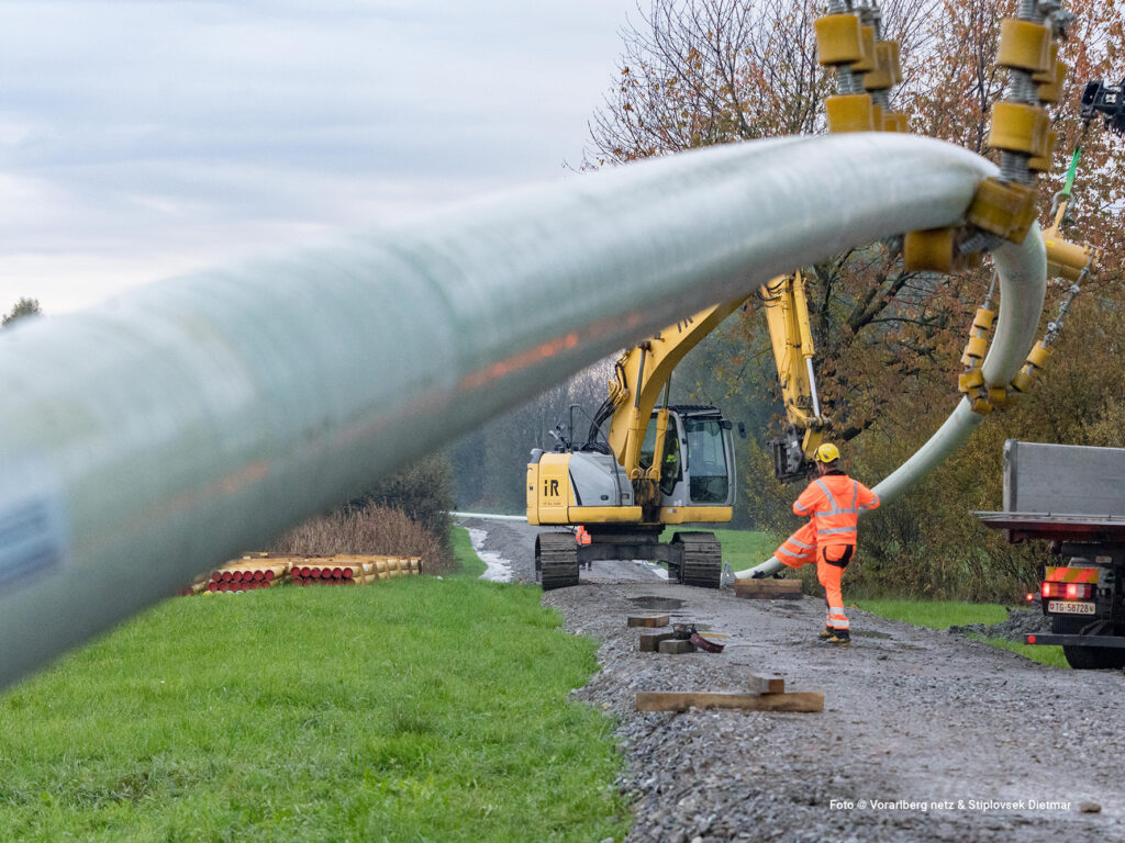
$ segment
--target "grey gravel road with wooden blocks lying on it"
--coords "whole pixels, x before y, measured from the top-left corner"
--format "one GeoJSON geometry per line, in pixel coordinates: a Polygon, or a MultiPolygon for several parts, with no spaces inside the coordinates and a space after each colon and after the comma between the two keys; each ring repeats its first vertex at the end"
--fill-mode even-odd
{"type": "MultiPolygon", "coordinates": [[[[534,528],[471,526],[533,581],[534,528]]],[[[831,649],[814,641],[817,599],[736,599],[615,564],[543,604],[602,642],[602,670],[574,695],[620,719],[629,841],[1125,840],[1120,671],[1048,668],[857,609],[853,646],[831,649]],[[729,635],[726,652],[638,652],[626,616],[645,597],[683,600],[673,619],[729,635]],[[634,710],[636,691],[738,691],[749,672],[824,691],[825,711],[634,710]]]]}

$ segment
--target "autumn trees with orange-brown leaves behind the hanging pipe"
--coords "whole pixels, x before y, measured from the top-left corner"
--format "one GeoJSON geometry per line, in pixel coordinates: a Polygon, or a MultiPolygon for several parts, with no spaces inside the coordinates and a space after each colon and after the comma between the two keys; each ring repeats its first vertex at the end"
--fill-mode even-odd
{"type": "MultiPolygon", "coordinates": [[[[914,132],[992,157],[986,145],[990,111],[1005,84],[1005,74],[996,69],[998,22],[1014,11],[1014,0],[886,0],[881,6],[884,37],[902,44],[903,84],[896,92],[896,110],[909,116],[914,132]]],[[[1095,375],[1094,366],[1115,365],[1125,372],[1125,356],[1115,356],[1117,344],[1105,343],[1096,354],[1074,351],[1083,347],[1079,339],[1083,332],[1104,335],[1114,311],[1125,309],[1120,285],[1125,255],[1114,236],[1125,207],[1125,140],[1097,126],[1086,130],[1079,119],[1084,82],[1125,75],[1120,54],[1125,16],[1112,0],[1072,0],[1066,9],[1074,21],[1060,57],[1071,73],[1066,96],[1052,109],[1059,142],[1052,173],[1041,182],[1041,219],[1050,221],[1052,198],[1062,187],[1074,145],[1081,142],[1076,201],[1064,232],[1071,239],[1100,246],[1104,257],[1060,346],[1060,354],[1071,350],[1077,359],[1060,369],[1097,398],[1090,404],[1059,389],[1055,381],[1041,390],[1050,404],[1033,395],[1005,414],[992,432],[979,435],[978,444],[942,469],[942,496],[918,497],[874,519],[878,524],[865,533],[863,554],[873,558],[872,570],[897,564],[907,546],[922,555],[940,551],[956,559],[969,531],[984,549],[986,563],[1007,564],[1017,572],[1004,580],[1010,586],[1022,565],[1028,564],[1026,554],[1012,554],[982,531],[963,526],[966,500],[983,506],[982,495],[998,492],[996,436],[1000,434],[996,432],[1006,424],[1045,438],[1094,441],[1112,425],[1107,419],[1125,418],[1125,399],[1119,393],[1115,398],[1110,387],[1116,380],[1081,374],[1095,375]],[[1083,418],[1088,413],[1096,416],[1083,418]],[[1073,424],[1059,425],[1060,418],[1073,424]],[[1052,430],[1051,420],[1054,433],[1045,434],[1052,430]],[[991,471],[987,481],[984,466],[991,471]],[[935,520],[950,528],[922,529],[924,523],[935,520]],[[962,526],[954,528],[955,523],[962,526]]],[[[591,124],[587,165],[822,132],[821,102],[832,82],[816,63],[812,21],[821,12],[820,3],[808,0],[654,0],[641,25],[626,33],[619,80],[591,124]]],[[[898,246],[892,242],[854,250],[804,268],[821,398],[835,422],[831,435],[837,442],[850,442],[847,450],[861,473],[872,477],[912,453],[956,401],[957,359],[991,275],[987,269],[948,278],[903,272],[898,246]]],[[[1048,312],[1063,291],[1063,285],[1051,288],[1048,312]]],[[[774,400],[764,318],[744,314],[735,333],[741,339],[741,355],[756,357],[759,364],[728,372],[737,373],[741,389],[774,400]]],[[[777,505],[791,495],[762,477],[768,460],[760,452],[757,456],[752,459],[757,473],[744,488],[757,523],[770,525],[784,511],[777,505]]],[[[928,482],[925,488],[934,487],[928,482]]],[[[785,526],[783,516],[777,524],[785,526]]],[[[957,564],[951,570],[964,568],[957,564]]],[[[912,570],[924,568],[916,564],[912,570]]],[[[953,580],[943,579],[946,573],[919,575],[911,588],[922,589],[919,583],[925,583],[930,591],[950,589],[953,580]]],[[[974,588],[986,579],[974,580],[974,588]]]]}

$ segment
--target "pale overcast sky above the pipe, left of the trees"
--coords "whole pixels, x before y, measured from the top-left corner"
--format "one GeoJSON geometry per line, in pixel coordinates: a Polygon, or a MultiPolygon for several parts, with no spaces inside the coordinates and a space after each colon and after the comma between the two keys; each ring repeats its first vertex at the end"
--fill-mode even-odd
{"type": "Polygon", "coordinates": [[[0,0],[0,311],[567,176],[636,0],[0,0]]]}

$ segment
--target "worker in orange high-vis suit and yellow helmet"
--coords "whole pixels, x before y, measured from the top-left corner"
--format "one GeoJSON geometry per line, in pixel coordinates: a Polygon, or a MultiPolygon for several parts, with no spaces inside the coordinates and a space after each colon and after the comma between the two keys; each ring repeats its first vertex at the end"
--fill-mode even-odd
{"type": "Polygon", "coordinates": [[[793,511],[809,516],[809,523],[786,538],[774,555],[790,568],[817,563],[817,579],[824,586],[828,607],[819,637],[829,644],[848,646],[852,632],[844,614],[840,580],[844,569],[855,556],[860,513],[875,509],[879,496],[840,471],[840,452],[835,445],[825,443],[816,450],[812,460],[817,479],[793,504],[793,511]]]}

